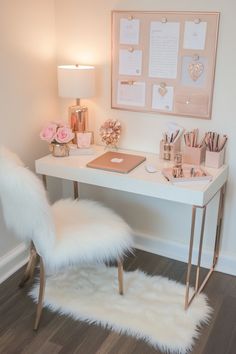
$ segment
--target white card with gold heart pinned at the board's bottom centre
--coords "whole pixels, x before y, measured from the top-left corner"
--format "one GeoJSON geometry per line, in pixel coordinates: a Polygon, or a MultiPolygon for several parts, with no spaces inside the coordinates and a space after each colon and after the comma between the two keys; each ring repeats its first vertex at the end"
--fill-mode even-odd
{"type": "Polygon", "coordinates": [[[164,96],[160,94],[160,88],[160,85],[153,85],[152,108],[162,111],[172,111],[174,88],[172,86],[166,86],[167,92],[164,96]]]}

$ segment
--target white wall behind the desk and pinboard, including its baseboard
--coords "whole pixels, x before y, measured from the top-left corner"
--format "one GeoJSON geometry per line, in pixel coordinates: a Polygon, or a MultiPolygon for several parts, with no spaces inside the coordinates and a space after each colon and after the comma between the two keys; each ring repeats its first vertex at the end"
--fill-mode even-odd
{"type": "MultiPolygon", "coordinates": [[[[158,152],[159,141],[165,124],[170,117],[162,114],[132,113],[111,110],[110,108],[110,72],[111,72],[111,10],[186,10],[186,11],[220,11],[220,32],[216,66],[216,80],[211,120],[173,117],[171,120],[183,125],[187,130],[198,127],[200,133],[216,130],[229,136],[226,160],[230,165],[229,182],[225,205],[225,222],[222,230],[221,270],[235,272],[236,265],[236,208],[234,176],[236,160],[236,2],[234,0],[57,0],[56,4],[56,50],[57,63],[88,63],[97,67],[98,94],[94,100],[85,102],[89,105],[90,127],[95,130],[96,140],[101,123],[107,118],[118,118],[124,132],[121,147],[158,152]]],[[[68,102],[60,101],[61,115],[66,114],[68,102]]],[[[103,199],[124,215],[141,235],[142,247],[154,252],[183,259],[190,225],[186,217],[191,210],[151,198],[114,192],[98,188],[82,189],[83,196],[103,199]],[[167,218],[169,217],[169,219],[167,218]]],[[[213,217],[215,205],[210,212],[207,233],[214,231],[213,217]]],[[[210,249],[212,241],[206,241],[210,249]]],[[[208,258],[209,254],[204,254],[208,258]]]]}

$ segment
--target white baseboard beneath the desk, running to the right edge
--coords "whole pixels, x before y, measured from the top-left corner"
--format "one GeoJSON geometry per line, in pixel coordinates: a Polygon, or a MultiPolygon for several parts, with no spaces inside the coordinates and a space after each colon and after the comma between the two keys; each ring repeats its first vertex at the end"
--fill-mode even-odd
{"type": "MultiPolygon", "coordinates": [[[[140,233],[135,235],[134,242],[135,247],[138,249],[178,261],[187,262],[188,245],[140,233]]],[[[209,268],[212,263],[212,256],[213,252],[203,249],[201,265],[209,268]]],[[[193,264],[196,264],[196,260],[197,250],[194,249],[193,264]]],[[[236,275],[236,254],[229,255],[220,252],[216,270],[226,274],[236,275]]]]}

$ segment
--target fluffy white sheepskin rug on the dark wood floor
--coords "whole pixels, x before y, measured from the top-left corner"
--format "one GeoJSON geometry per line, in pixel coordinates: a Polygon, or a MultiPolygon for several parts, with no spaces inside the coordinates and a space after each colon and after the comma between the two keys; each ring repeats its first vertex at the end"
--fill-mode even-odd
{"type": "MultiPolygon", "coordinates": [[[[49,276],[44,305],[74,319],[101,324],[148,342],[168,353],[186,353],[212,309],[205,295],[184,311],[185,286],[136,270],[124,273],[118,294],[117,268],[103,265],[70,269],[49,276]]],[[[37,299],[38,285],[30,292],[37,299]]]]}

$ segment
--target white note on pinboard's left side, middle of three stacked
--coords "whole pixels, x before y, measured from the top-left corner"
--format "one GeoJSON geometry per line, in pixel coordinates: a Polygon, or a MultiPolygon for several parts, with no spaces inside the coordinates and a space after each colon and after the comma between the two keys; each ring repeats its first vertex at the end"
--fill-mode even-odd
{"type": "Polygon", "coordinates": [[[142,71],[142,51],[134,50],[130,52],[120,49],[119,52],[119,74],[120,75],[141,75],[142,71]]]}

